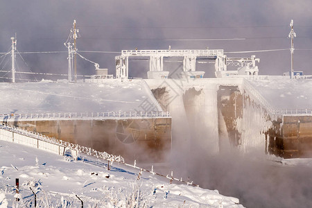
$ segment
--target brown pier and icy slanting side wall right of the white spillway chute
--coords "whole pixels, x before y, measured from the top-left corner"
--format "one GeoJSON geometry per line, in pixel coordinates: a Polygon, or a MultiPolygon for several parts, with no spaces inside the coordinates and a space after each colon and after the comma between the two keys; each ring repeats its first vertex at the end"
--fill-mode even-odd
{"type": "Polygon", "coordinates": [[[220,139],[229,141],[229,146],[243,152],[268,153],[268,131],[274,119],[259,101],[250,96],[243,85],[220,86],[218,90],[220,139]],[[224,139],[224,137],[226,139],[224,139]]]}

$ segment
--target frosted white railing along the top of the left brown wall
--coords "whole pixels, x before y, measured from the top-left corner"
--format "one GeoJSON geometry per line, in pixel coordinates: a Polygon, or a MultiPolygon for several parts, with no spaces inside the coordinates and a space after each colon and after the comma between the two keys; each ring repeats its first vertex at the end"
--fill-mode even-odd
{"type": "Polygon", "coordinates": [[[166,118],[169,112],[81,112],[81,113],[42,113],[42,114],[0,114],[0,121],[68,120],[68,119],[139,119],[166,118]]]}

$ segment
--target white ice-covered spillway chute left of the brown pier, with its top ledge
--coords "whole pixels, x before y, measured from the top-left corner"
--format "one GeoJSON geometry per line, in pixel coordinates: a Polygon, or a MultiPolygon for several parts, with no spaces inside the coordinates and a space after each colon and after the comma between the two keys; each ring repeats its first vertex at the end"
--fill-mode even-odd
{"type": "Polygon", "coordinates": [[[241,79],[233,79],[231,83],[215,78],[146,80],[146,83],[163,110],[171,112],[175,161],[180,159],[176,155],[187,154],[191,160],[219,153],[217,92],[220,85],[240,86],[241,79]]]}

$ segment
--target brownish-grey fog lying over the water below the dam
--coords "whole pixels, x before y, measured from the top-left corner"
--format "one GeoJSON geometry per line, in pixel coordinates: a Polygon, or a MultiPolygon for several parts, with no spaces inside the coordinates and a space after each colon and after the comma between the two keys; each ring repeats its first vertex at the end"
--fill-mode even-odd
{"type": "Polygon", "coordinates": [[[176,177],[239,198],[244,207],[312,207],[312,166],[281,164],[265,157],[264,150],[212,154],[202,143],[191,142],[184,152],[174,148],[171,168],[176,177]]]}

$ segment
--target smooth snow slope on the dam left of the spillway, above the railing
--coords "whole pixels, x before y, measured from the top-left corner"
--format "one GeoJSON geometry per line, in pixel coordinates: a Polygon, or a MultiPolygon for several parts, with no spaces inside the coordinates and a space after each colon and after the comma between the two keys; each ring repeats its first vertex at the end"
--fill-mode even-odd
{"type": "Polygon", "coordinates": [[[103,83],[0,83],[0,114],[162,111],[144,80],[103,83]]]}

